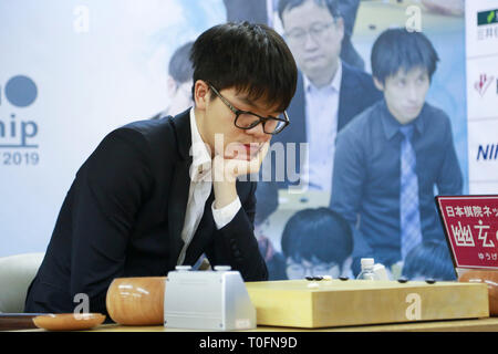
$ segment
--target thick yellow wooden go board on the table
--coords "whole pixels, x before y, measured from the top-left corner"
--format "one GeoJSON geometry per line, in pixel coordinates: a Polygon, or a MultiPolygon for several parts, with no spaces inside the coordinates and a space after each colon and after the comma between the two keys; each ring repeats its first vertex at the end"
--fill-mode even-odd
{"type": "Polygon", "coordinates": [[[307,280],[247,282],[258,325],[330,327],[489,316],[485,284],[307,280]]]}

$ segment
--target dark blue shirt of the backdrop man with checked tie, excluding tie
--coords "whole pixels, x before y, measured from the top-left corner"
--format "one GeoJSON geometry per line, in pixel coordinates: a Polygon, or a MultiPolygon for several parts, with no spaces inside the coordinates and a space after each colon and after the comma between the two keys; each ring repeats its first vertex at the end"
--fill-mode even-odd
{"type": "MultiPolygon", "coordinates": [[[[450,121],[442,110],[425,103],[412,124],[422,238],[444,242],[434,187],[443,196],[460,195],[463,189],[450,121]]],[[[330,207],[353,229],[355,275],[364,257],[372,257],[387,268],[403,260],[400,195],[404,136],[401,127],[382,100],[338,135],[330,207]]]]}

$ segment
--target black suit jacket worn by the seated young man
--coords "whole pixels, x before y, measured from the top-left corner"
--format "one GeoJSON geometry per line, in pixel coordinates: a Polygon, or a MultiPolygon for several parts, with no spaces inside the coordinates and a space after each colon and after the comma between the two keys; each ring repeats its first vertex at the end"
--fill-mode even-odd
{"type": "MultiPolygon", "coordinates": [[[[76,174],[45,258],[28,291],[25,312],[73,312],[74,295],[106,313],[114,278],[162,277],[174,270],[190,184],[189,111],[128,124],[108,134],[76,174]]],[[[242,208],[217,230],[209,196],[184,264],[206,253],[246,281],[266,280],[253,236],[256,184],[237,181],[242,208]]]]}

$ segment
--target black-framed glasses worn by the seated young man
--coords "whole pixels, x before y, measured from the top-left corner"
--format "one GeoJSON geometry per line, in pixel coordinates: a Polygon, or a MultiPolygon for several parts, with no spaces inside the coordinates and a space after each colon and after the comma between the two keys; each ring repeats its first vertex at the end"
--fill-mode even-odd
{"type": "Polygon", "coordinates": [[[208,85],[212,90],[212,92],[221,100],[221,102],[225,103],[225,105],[230,108],[231,112],[234,112],[234,114],[236,115],[234,124],[240,129],[252,129],[255,126],[261,123],[263,126],[263,132],[266,134],[276,135],[282,132],[283,128],[290,124],[289,116],[287,115],[286,111],[283,111],[283,113],[279,114],[277,117],[263,117],[249,111],[238,110],[230,102],[228,102],[228,100],[225,98],[211,84],[208,83],[208,85]]]}

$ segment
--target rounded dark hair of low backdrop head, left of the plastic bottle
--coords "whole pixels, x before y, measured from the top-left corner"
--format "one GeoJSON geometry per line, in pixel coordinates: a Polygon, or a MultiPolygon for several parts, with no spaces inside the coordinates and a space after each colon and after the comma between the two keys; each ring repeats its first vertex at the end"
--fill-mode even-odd
{"type": "Polygon", "coordinates": [[[289,219],[281,243],[286,257],[294,261],[312,261],[314,256],[322,262],[342,266],[353,251],[353,235],[347,221],[338,212],[324,207],[309,208],[289,219]]]}

